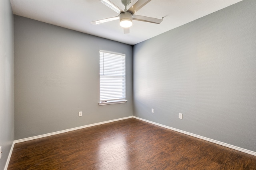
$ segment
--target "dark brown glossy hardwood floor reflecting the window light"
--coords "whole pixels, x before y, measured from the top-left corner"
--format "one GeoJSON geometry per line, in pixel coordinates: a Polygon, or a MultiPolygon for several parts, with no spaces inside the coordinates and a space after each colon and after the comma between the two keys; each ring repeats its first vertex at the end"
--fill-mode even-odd
{"type": "Polygon", "coordinates": [[[256,156],[134,118],[14,145],[8,170],[256,170],[256,156]]]}

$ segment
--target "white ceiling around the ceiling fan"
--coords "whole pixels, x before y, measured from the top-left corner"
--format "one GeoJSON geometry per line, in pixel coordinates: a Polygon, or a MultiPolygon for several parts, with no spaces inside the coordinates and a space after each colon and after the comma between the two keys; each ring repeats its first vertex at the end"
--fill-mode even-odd
{"type": "MultiPolygon", "coordinates": [[[[132,6],[138,0],[131,0],[132,6]]],[[[152,0],[136,15],[164,20],[160,24],[133,21],[124,34],[119,20],[92,25],[90,22],[118,16],[100,0],[10,0],[13,14],[60,27],[134,45],[196,20],[241,0],[152,0]]],[[[111,0],[124,9],[121,0],[111,0]]]]}

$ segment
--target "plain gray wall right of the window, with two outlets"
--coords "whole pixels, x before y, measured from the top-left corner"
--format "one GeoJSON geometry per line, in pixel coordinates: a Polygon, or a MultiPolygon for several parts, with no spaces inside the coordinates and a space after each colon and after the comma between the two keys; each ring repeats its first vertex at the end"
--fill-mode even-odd
{"type": "Polygon", "coordinates": [[[134,116],[256,151],[255,11],[238,2],[135,45],[134,116]]]}

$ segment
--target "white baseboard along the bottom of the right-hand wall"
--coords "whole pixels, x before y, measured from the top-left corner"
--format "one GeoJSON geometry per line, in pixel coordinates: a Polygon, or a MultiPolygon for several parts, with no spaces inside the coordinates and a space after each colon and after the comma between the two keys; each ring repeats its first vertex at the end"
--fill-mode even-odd
{"type": "Polygon", "coordinates": [[[196,134],[193,134],[193,133],[189,133],[189,132],[186,132],[186,131],[182,131],[182,130],[179,130],[179,129],[175,129],[173,127],[169,127],[169,126],[166,126],[166,125],[162,125],[162,124],[159,124],[159,123],[155,123],[153,121],[149,121],[149,120],[146,120],[146,119],[142,119],[140,117],[136,117],[136,116],[132,116],[133,118],[135,119],[139,119],[139,120],[142,120],[142,121],[146,121],[148,123],[151,123],[151,124],[154,124],[154,125],[157,125],[157,126],[160,126],[160,127],[164,127],[166,129],[171,129],[173,131],[177,131],[177,132],[180,132],[180,133],[184,133],[186,135],[190,135],[192,137],[196,137],[196,138],[199,138],[199,139],[203,139],[205,141],[208,141],[208,142],[212,142],[212,143],[215,143],[215,144],[218,144],[218,145],[222,145],[224,147],[228,147],[228,148],[231,148],[231,149],[234,149],[234,150],[238,150],[238,151],[241,151],[241,152],[244,152],[244,153],[247,153],[247,154],[251,154],[251,155],[254,155],[256,156],[256,152],[254,151],[251,151],[251,150],[247,150],[247,149],[243,149],[243,148],[240,148],[240,147],[236,147],[234,145],[230,145],[230,144],[227,144],[227,143],[224,143],[224,142],[220,142],[220,141],[216,141],[214,139],[210,139],[210,138],[207,138],[207,137],[202,137],[200,135],[196,135],[196,134]]]}

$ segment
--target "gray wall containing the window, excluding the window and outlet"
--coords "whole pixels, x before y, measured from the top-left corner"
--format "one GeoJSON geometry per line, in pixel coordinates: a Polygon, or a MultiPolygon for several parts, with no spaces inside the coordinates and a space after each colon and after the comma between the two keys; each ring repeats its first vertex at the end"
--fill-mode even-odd
{"type": "Polygon", "coordinates": [[[14,36],[15,140],[132,115],[131,45],[20,16],[14,36]],[[127,103],[98,105],[100,49],[126,54],[127,103]]]}

